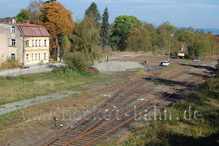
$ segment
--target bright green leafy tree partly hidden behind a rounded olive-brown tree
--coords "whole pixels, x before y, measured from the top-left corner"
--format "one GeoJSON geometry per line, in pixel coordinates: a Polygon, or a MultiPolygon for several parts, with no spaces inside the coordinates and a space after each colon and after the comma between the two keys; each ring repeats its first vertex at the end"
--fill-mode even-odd
{"type": "Polygon", "coordinates": [[[113,22],[112,45],[118,46],[119,50],[125,50],[125,40],[128,37],[130,28],[141,27],[141,21],[135,16],[121,15],[113,22]]]}

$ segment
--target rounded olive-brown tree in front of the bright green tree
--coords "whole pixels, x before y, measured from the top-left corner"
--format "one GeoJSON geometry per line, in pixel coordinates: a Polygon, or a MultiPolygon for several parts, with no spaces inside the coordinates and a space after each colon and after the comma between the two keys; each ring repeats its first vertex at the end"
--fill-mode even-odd
{"type": "Polygon", "coordinates": [[[151,48],[150,34],[144,28],[131,28],[126,44],[127,49],[131,51],[149,51],[151,48]]]}

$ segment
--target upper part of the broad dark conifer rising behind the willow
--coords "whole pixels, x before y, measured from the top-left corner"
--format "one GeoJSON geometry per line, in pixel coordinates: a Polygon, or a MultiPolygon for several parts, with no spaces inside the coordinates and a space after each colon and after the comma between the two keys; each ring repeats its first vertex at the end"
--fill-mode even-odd
{"type": "Polygon", "coordinates": [[[99,10],[97,9],[96,3],[92,2],[90,7],[85,11],[85,15],[88,15],[89,17],[93,17],[97,26],[99,25],[101,16],[99,10]]]}

